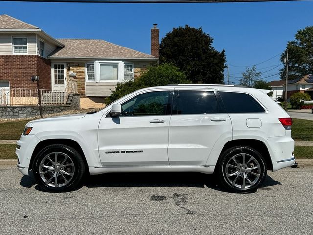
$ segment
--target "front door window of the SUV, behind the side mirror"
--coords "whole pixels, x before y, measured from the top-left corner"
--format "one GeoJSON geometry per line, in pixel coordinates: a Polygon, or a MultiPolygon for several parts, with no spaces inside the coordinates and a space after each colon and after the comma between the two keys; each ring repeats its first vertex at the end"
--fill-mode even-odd
{"type": "Polygon", "coordinates": [[[164,115],[169,108],[170,91],[139,94],[122,104],[122,115],[164,115]]]}

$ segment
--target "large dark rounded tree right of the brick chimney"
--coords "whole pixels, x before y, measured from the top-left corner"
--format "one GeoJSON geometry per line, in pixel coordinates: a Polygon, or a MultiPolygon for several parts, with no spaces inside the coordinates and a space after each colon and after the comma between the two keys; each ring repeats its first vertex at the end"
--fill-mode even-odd
{"type": "Polygon", "coordinates": [[[225,51],[212,47],[213,38],[202,28],[173,28],[160,44],[160,63],[170,63],[193,83],[223,84],[225,51]]]}

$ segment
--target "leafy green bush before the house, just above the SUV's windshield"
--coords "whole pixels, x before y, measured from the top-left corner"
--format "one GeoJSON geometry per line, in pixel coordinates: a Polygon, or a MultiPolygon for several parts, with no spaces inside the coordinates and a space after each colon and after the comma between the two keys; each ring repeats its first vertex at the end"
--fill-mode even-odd
{"type": "Polygon", "coordinates": [[[169,64],[152,66],[149,67],[147,71],[142,72],[140,77],[132,81],[118,83],[115,91],[112,91],[110,96],[105,99],[105,103],[112,103],[141,88],[177,83],[190,83],[186,75],[180,72],[177,67],[169,64]]]}

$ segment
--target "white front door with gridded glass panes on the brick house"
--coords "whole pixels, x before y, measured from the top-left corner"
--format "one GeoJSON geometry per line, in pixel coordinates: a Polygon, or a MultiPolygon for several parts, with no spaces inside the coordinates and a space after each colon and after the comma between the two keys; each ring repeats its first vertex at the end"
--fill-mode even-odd
{"type": "Polygon", "coordinates": [[[65,63],[52,63],[52,90],[65,91],[67,84],[67,67],[65,63]]]}

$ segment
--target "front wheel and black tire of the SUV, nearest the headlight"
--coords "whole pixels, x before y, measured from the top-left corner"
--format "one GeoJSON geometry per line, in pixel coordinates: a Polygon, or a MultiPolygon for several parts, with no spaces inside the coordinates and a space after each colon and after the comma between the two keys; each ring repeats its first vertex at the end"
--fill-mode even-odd
{"type": "Polygon", "coordinates": [[[36,155],[32,169],[37,184],[45,191],[65,192],[80,186],[85,163],[74,148],[52,144],[36,155]]]}

